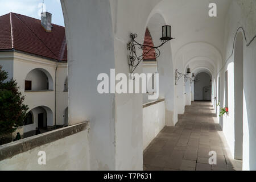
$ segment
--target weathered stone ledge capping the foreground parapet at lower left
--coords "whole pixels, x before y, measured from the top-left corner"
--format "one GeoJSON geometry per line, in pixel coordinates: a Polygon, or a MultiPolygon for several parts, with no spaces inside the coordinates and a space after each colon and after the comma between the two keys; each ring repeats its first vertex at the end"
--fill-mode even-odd
{"type": "Polygon", "coordinates": [[[88,122],[63,127],[0,146],[0,161],[88,129],[88,122]]]}

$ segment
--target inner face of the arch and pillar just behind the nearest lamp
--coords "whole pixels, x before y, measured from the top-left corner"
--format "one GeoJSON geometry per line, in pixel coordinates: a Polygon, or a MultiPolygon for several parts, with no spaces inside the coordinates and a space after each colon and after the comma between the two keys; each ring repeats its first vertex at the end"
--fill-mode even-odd
{"type": "MultiPolygon", "coordinates": [[[[166,20],[160,13],[150,16],[147,21],[147,28],[150,31],[154,46],[158,46],[162,37],[162,26],[166,20]]],[[[174,126],[176,122],[174,109],[174,67],[172,63],[171,43],[168,42],[160,48],[160,56],[156,58],[159,74],[159,98],[166,101],[166,125],[174,126]]]]}

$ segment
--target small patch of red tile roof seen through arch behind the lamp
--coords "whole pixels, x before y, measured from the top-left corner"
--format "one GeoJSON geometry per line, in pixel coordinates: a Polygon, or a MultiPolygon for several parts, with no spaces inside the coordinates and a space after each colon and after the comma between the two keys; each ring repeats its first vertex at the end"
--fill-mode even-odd
{"type": "MultiPolygon", "coordinates": [[[[146,32],[145,32],[144,45],[154,46],[154,43],[153,43],[153,40],[151,38],[148,28],[146,29],[146,32]]],[[[146,47],[146,49],[143,50],[143,60],[147,61],[147,60],[155,60],[156,59],[155,58],[155,49],[151,49],[151,50],[150,49],[151,49],[150,47],[146,47]]]]}

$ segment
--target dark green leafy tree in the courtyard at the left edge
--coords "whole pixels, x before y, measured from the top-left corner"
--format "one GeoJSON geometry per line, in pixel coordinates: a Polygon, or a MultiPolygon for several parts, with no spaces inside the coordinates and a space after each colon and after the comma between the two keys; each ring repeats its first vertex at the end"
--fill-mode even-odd
{"type": "Polygon", "coordinates": [[[8,73],[0,65],[0,136],[13,133],[22,126],[28,111],[16,81],[13,78],[6,81],[7,78],[8,73]]]}

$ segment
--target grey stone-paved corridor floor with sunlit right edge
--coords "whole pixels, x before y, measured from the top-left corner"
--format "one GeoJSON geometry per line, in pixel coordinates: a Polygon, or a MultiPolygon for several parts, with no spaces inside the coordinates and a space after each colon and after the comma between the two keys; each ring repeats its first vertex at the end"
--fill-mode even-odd
{"type": "Polygon", "coordinates": [[[233,160],[228,144],[208,101],[192,102],[179,115],[174,127],[164,127],[143,152],[146,171],[228,171],[241,170],[242,161],[233,160]],[[209,164],[209,152],[217,164],[209,164]]]}

